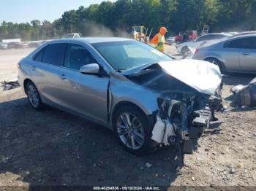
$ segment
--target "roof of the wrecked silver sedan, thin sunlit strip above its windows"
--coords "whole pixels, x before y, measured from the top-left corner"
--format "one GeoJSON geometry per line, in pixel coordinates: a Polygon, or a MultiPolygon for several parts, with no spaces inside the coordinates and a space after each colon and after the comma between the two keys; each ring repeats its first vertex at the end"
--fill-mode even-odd
{"type": "Polygon", "coordinates": [[[127,41],[132,39],[118,38],[118,37],[83,37],[83,38],[63,39],[63,40],[71,40],[71,41],[74,40],[74,41],[88,42],[90,44],[93,44],[93,43],[100,43],[100,42],[127,41]]]}

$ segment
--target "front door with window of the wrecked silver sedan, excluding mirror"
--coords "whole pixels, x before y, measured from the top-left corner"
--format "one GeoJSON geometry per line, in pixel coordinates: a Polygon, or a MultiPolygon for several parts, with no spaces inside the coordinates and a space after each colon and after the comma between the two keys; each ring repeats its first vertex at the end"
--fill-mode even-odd
{"type": "Polygon", "coordinates": [[[62,105],[99,122],[107,122],[106,75],[82,74],[80,67],[97,63],[91,53],[80,44],[68,44],[61,69],[60,99],[62,105]]]}

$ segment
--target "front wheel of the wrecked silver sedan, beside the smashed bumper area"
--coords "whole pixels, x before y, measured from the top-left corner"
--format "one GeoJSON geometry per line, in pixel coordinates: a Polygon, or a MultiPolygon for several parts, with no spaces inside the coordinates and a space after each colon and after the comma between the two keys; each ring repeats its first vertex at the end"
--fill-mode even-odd
{"type": "Polygon", "coordinates": [[[146,114],[135,106],[119,108],[113,116],[113,127],[119,144],[133,155],[145,155],[151,141],[151,127],[148,123],[146,114]]]}

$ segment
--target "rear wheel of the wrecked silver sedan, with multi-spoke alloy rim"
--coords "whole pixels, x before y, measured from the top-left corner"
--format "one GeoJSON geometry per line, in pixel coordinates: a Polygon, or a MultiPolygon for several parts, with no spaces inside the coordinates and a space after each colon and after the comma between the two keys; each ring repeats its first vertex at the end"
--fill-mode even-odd
{"type": "Polygon", "coordinates": [[[41,110],[42,109],[42,100],[40,98],[37,87],[33,82],[26,83],[26,95],[29,100],[29,104],[33,109],[41,110]]]}

